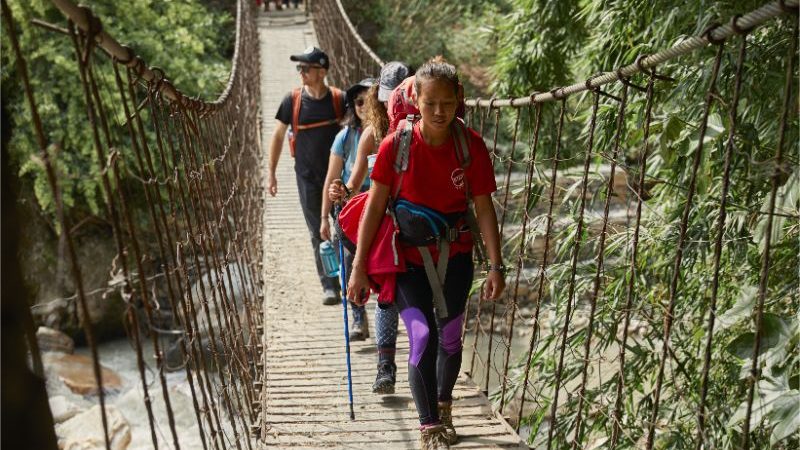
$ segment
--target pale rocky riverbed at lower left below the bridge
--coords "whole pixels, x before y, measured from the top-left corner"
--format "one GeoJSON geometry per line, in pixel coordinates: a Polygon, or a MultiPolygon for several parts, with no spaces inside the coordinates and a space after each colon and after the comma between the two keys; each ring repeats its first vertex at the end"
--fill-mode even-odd
{"type": "MultiPolygon", "coordinates": [[[[77,348],[74,353],[68,353],[64,351],[69,349],[68,337],[62,335],[56,339],[52,331],[43,329],[40,329],[38,335],[40,342],[44,341],[41,337],[43,335],[47,335],[46,339],[49,341],[44,346],[46,351],[42,358],[59,447],[64,450],[104,449],[100,403],[89,349],[77,348]],[[53,341],[60,342],[61,345],[53,345],[53,341]]],[[[145,378],[152,400],[156,437],[159,446],[172,448],[172,436],[152,347],[143,345],[145,378]]],[[[106,342],[98,346],[98,352],[103,368],[111,448],[152,449],[142,380],[132,344],[126,339],[106,342]]],[[[202,448],[185,372],[168,373],[166,377],[175,429],[182,448],[202,448]]]]}

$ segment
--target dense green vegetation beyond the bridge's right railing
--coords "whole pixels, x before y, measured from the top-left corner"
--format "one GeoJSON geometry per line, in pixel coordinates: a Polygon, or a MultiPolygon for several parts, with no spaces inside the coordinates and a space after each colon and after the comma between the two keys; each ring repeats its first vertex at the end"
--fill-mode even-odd
{"type": "MultiPolygon", "coordinates": [[[[734,14],[761,6],[762,1],[675,2],[616,0],[505,0],[447,1],[426,9],[421,0],[380,0],[375,8],[363,2],[345,2],[353,21],[367,41],[384,59],[403,59],[419,64],[433,54],[444,54],[467,75],[472,85],[468,95],[484,98],[521,96],[533,91],[585,80],[598,71],[630,64],[642,53],[666,49],[687,36],[698,35],[713,21],[726,21],[734,14]],[[377,32],[380,30],[380,33],[377,32]],[[480,76],[475,76],[479,74],[480,76]]],[[[797,67],[793,71],[793,97],[784,148],[784,165],[779,177],[777,209],[772,243],[765,249],[766,214],[770,182],[775,170],[775,155],[783,85],[788,63],[790,37],[796,17],[784,16],[748,37],[744,67],[744,90],[739,103],[738,125],[733,135],[734,159],[728,195],[728,218],[723,230],[723,253],[717,326],[709,374],[708,408],[712,421],[708,439],[717,448],[736,448],[744,421],[749,367],[754,341],[754,305],[761,260],[770,252],[769,282],[766,290],[762,332],[761,379],[756,389],[752,429],[757,448],[795,448],[800,428],[800,328],[797,324],[798,240],[800,238],[800,169],[798,169],[797,67]]],[[[704,157],[698,172],[697,194],[692,202],[687,239],[681,264],[679,290],[675,297],[676,322],[672,331],[668,361],[668,383],[661,398],[658,448],[693,448],[696,409],[699,402],[710,285],[713,276],[713,243],[716,238],[719,198],[722,188],[723,154],[731,125],[729,101],[733,92],[739,38],[727,44],[721,63],[717,90],[723,102],[712,107],[709,126],[703,137],[704,157]]],[[[662,318],[669,297],[670,277],[676,253],[680,217],[689,185],[692,156],[697,148],[700,123],[715,48],[709,48],[671,61],[659,72],[675,82],[658,82],[651,125],[651,155],[647,175],[649,199],[644,208],[638,255],[639,287],[634,315],[652,330],[628,349],[623,428],[628,435],[621,445],[641,444],[646,420],[653,402],[653,383],[661,354],[662,318]],[[638,441],[638,444],[637,444],[638,441]]],[[[643,85],[646,78],[634,82],[643,85]]],[[[607,87],[619,95],[620,86],[607,87]]],[[[644,147],[644,95],[631,92],[626,128],[623,131],[620,164],[633,180],[640,152],[644,147]]],[[[578,165],[585,152],[591,96],[577,95],[567,101],[564,130],[564,165],[578,165]]],[[[545,106],[541,151],[542,187],[547,180],[554,148],[557,107],[545,106]]],[[[504,111],[501,140],[508,139],[512,114],[504,111]],[[505,132],[505,135],[502,133],[505,132]]],[[[615,128],[617,103],[600,103],[596,149],[610,149],[615,128]]],[[[525,123],[527,119],[523,119],[525,123]]],[[[527,132],[525,133],[527,134],[527,132]]],[[[527,138],[527,136],[524,136],[527,138]]],[[[507,146],[500,146],[506,148],[507,146]]],[[[595,161],[600,164],[598,158],[595,161]]],[[[605,161],[607,162],[607,161],[605,161]]],[[[520,168],[523,168],[520,165],[520,168]]],[[[574,187],[573,187],[574,188],[574,187]]],[[[516,192],[521,195],[521,190],[516,192]]],[[[601,204],[599,192],[594,203],[601,204]]],[[[546,199],[539,199],[546,204],[546,199]]],[[[535,208],[536,205],[533,206],[535,208]]],[[[549,272],[550,292],[546,299],[557,313],[564,311],[566,286],[570,276],[570,253],[576,240],[577,202],[566,201],[562,213],[572,222],[559,231],[559,255],[549,272]]],[[[512,218],[513,220],[513,218],[512,218]]],[[[534,221],[541,223],[543,217],[534,221]]],[[[625,304],[627,261],[631,252],[631,230],[612,232],[607,239],[604,271],[606,280],[598,305],[598,324],[593,336],[595,351],[613,349],[619,342],[620,309],[625,304]]],[[[583,246],[595,248],[597,240],[584,234],[583,246]]],[[[506,245],[509,256],[519,242],[506,245]]],[[[587,260],[578,267],[576,298],[590,291],[596,262],[587,260]]],[[[558,314],[557,314],[558,316],[558,314]]],[[[558,329],[563,317],[554,324],[558,329]]],[[[572,330],[568,355],[581,354],[586,330],[572,330]]],[[[532,362],[536,386],[552,385],[555,380],[559,344],[556,335],[543,335],[532,362]]],[[[616,371],[616,370],[615,370],[616,371]]],[[[517,373],[522,373],[518,371],[517,373]]],[[[580,365],[567,366],[566,379],[579,376],[580,365]]],[[[603,445],[611,419],[598,413],[613,409],[618,373],[611,373],[598,386],[587,391],[587,403],[594,413],[583,428],[584,442],[603,445]]],[[[520,389],[516,380],[513,389],[520,389]]],[[[538,409],[526,423],[532,439],[542,437],[552,389],[538,394],[538,409]]],[[[495,398],[499,401],[498,394],[495,398]]],[[[562,404],[564,402],[562,401],[562,404]]],[[[562,406],[559,429],[562,438],[570,435],[576,418],[578,398],[570,397],[562,406]]],[[[546,435],[546,433],[544,433],[546,435]]],[[[540,442],[540,441],[539,441],[540,442]]],[[[564,441],[562,441],[564,442],[564,441]]]]}

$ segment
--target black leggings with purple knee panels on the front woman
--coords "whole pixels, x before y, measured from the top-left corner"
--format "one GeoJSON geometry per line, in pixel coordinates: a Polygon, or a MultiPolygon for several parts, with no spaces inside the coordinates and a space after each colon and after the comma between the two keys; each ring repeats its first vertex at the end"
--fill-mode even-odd
{"type": "Polygon", "coordinates": [[[425,269],[409,264],[405,273],[398,274],[396,302],[411,347],[408,381],[422,425],[439,422],[437,403],[453,398],[461,369],[461,328],[472,276],[471,253],[450,258],[444,286],[449,315],[439,319],[433,310],[425,269]]]}

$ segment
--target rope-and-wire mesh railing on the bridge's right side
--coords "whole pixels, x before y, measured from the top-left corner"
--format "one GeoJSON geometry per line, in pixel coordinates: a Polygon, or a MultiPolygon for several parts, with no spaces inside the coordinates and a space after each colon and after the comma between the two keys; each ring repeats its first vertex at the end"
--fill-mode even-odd
{"type": "MultiPolygon", "coordinates": [[[[350,43],[358,56],[337,64],[360,64],[339,2],[315,4],[321,45],[350,43]]],[[[515,270],[504,300],[470,299],[462,369],[532,446],[796,444],[775,404],[797,396],[784,371],[798,353],[796,278],[780,280],[798,265],[785,247],[799,218],[796,14],[796,1],[770,2],[585,82],[466,101],[515,270]],[[666,76],[682,55],[697,70],[666,76]],[[775,126],[747,131],[746,93],[765,82],[748,68],[770,61],[783,79],[763,110],[775,126]],[[674,87],[686,77],[692,92],[674,87]]]]}

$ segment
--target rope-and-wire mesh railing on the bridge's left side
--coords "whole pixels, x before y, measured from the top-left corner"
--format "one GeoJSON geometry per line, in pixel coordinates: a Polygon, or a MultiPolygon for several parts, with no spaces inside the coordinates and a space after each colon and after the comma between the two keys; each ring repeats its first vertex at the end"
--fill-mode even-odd
{"type": "MultiPolygon", "coordinates": [[[[68,19],[74,88],[83,95],[95,166],[116,257],[104,295],[125,302],[153,448],[253,449],[260,431],[263,379],[262,187],[258,137],[259,52],[252,2],[236,4],[236,41],[224,92],[204,101],[183,94],[161,69],[103,30],[89,8],[54,0],[68,19]],[[178,353],[169,367],[166,353],[178,353]],[[148,354],[154,355],[155,368],[148,354]],[[199,436],[186,441],[175,416],[169,370],[185,374],[199,436]],[[155,404],[158,403],[159,411],[155,404]],[[163,408],[163,414],[162,414],[163,408]],[[165,431],[166,430],[166,431],[165,431]],[[197,438],[199,437],[199,443],[197,438]]],[[[73,217],[62,199],[48,128],[39,116],[17,24],[2,2],[4,33],[12,43],[24,84],[39,157],[55,199],[67,246],[77,308],[99,387],[105,446],[111,448],[108,401],[95,342],[82,267],[72,235],[73,217]]]]}

